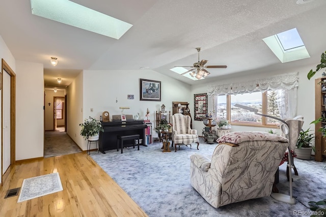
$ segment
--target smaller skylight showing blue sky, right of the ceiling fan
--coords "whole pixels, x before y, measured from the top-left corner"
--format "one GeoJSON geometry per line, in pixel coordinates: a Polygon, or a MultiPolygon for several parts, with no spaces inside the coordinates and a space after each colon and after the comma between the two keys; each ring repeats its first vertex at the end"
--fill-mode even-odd
{"type": "Polygon", "coordinates": [[[269,36],[263,41],[282,63],[310,57],[296,28],[269,36]]]}

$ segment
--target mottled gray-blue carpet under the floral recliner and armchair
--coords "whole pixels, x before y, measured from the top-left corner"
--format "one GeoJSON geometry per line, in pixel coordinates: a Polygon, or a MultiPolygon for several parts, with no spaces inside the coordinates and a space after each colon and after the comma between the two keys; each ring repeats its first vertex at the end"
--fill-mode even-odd
{"type": "MultiPolygon", "coordinates": [[[[191,186],[190,159],[193,153],[208,157],[217,144],[201,143],[200,150],[181,146],[177,152],[162,152],[161,143],[148,147],[129,147],[106,154],[92,152],[91,156],[124,191],[149,215],[160,216],[293,216],[296,210],[309,211],[311,200],[325,199],[325,162],[295,159],[298,176],[293,175],[293,196],[296,203],[289,205],[271,197],[264,197],[220,208],[210,206],[191,186]]],[[[280,193],[289,194],[286,164],[280,166],[280,193]]]]}

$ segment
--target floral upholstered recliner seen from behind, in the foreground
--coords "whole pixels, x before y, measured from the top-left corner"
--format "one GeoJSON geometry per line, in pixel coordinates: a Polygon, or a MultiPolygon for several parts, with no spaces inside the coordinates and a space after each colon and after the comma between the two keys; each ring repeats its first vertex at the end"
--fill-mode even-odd
{"type": "Polygon", "coordinates": [[[241,131],[221,137],[211,159],[191,155],[191,184],[213,207],[269,196],[288,140],[241,131]]]}

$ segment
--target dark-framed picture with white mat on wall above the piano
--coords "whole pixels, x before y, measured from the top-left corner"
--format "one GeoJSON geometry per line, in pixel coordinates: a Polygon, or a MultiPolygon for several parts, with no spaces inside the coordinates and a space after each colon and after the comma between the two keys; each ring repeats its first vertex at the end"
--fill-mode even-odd
{"type": "Polygon", "coordinates": [[[161,82],[140,78],[140,100],[161,101],[161,82]]]}

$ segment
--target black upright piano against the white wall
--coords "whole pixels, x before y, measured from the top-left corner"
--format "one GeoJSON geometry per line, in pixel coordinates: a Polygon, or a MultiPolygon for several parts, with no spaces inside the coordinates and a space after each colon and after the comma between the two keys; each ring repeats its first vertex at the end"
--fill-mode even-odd
{"type": "MultiPolygon", "coordinates": [[[[99,151],[105,154],[105,151],[117,149],[118,135],[134,135],[139,134],[145,144],[145,128],[147,127],[144,120],[127,120],[127,121],[101,121],[104,132],[100,132],[99,151]]],[[[130,141],[132,144],[133,141],[130,141]]]]}

